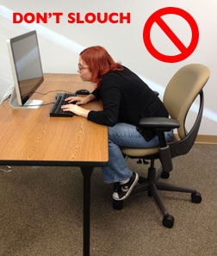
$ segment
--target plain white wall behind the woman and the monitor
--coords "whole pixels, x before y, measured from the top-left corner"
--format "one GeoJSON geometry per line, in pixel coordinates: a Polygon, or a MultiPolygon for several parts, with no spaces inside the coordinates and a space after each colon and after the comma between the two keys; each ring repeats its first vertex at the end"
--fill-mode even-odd
{"type": "MultiPolygon", "coordinates": [[[[78,53],[84,47],[102,45],[116,61],[133,72],[140,74],[153,90],[163,94],[164,88],[171,76],[180,67],[189,63],[202,63],[211,70],[211,77],[205,92],[205,111],[202,119],[200,134],[217,134],[217,2],[207,0],[200,4],[196,0],[92,0],[92,1],[15,1],[0,0],[0,98],[9,88],[12,73],[9,66],[6,39],[18,34],[36,29],[40,43],[40,54],[44,72],[75,73],[78,65],[78,53]],[[199,28],[200,38],[195,52],[189,58],[177,63],[164,63],[154,59],[147,52],[143,42],[143,28],[146,20],[158,9],[164,7],[178,7],[189,12],[195,18],[199,28]],[[57,24],[54,19],[47,24],[40,25],[12,23],[12,12],[63,12],[57,24]],[[130,12],[130,24],[70,24],[67,22],[69,12],[80,12],[84,16],[88,12],[130,12]]],[[[181,41],[188,47],[191,32],[187,22],[178,16],[164,16],[164,21],[170,25],[181,41]]],[[[164,54],[178,54],[178,50],[164,33],[154,25],[152,28],[154,46],[164,54]]],[[[194,111],[190,111],[188,123],[195,118],[194,111]]]]}

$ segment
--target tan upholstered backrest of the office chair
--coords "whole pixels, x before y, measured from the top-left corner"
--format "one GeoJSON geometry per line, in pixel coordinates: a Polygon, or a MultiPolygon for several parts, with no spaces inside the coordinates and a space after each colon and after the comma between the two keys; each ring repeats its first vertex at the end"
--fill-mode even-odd
{"type": "Polygon", "coordinates": [[[171,118],[180,122],[177,129],[180,139],[186,137],[185,119],[191,104],[208,81],[210,71],[207,66],[190,64],[183,66],[171,78],[164,91],[164,106],[171,118]]]}

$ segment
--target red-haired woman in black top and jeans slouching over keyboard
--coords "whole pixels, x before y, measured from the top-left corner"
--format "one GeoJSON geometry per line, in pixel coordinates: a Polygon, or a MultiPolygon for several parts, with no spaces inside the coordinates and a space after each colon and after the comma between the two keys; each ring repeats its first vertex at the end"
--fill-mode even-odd
{"type": "MultiPolygon", "coordinates": [[[[109,165],[102,167],[102,175],[107,184],[119,183],[113,199],[126,199],[137,184],[139,175],[128,169],[119,146],[158,146],[157,135],[146,141],[136,125],[142,117],[168,117],[168,113],[154,92],[127,67],[115,63],[103,47],[89,47],[80,53],[78,73],[84,81],[96,83],[96,90],[87,97],[68,97],[68,103],[76,104],[64,105],[62,109],[109,127],[109,165]],[[102,111],[79,106],[100,98],[102,111]]],[[[167,141],[171,136],[172,132],[165,133],[167,141]]]]}

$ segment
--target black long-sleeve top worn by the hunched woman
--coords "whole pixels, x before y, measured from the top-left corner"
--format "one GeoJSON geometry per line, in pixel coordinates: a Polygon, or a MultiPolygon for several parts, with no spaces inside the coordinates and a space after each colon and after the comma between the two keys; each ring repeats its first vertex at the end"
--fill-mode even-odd
{"type": "Polygon", "coordinates": [[[88,120],[114,126],[117,122],[137,125],[142,117],[168,117],[158,96],[135,73],[123,67],[102,76],[100,88],[92,92],[102,99],[103,110],[91,110],[88,120]]]}

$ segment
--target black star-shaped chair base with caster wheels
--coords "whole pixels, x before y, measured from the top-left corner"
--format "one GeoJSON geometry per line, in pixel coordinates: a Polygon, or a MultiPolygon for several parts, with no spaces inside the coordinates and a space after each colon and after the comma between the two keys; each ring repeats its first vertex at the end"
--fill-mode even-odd
{"type": "MultiPolygon", "coordinates": [[[[164,207],[164,203],[159,195],[158,190],[166,190],[166,191],[177,191],[177,192],[184,192],[184,193],[191,193],[191,202],[192,203],[201,203],[202,196],[199,192],[194,189],[189,189],[186,187],[181,187],[175,184],[166,184],[162,182],[158,182],[158,178],[162,176],[162,168],[156,172],[156,168],[153,166],[154,160],[151,161],[151,166],[148,169],[148,177],[139,178],[138,184],[133,188],[131,195],[140,193],[141,191],[147,191],[149,197],[153,197],[155,202],[158,205],[161,213],[164,215],[163,218],[163,225],[165,228],[172,228],[174,224],[174,217],[169,215],[167,210],[164,207]]],[[[169,176],[165,175],[168,178],[169,176]]],[[[114,209],[122,209],[123,208],[123,201],[115,201],[113,200],[113,208],[114,209]]]]}

